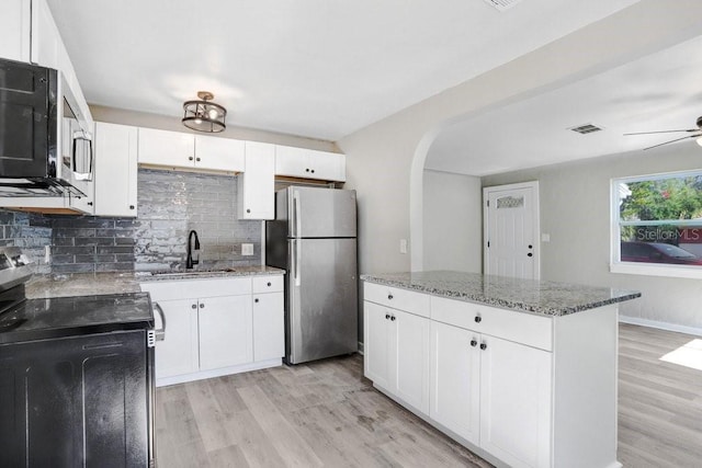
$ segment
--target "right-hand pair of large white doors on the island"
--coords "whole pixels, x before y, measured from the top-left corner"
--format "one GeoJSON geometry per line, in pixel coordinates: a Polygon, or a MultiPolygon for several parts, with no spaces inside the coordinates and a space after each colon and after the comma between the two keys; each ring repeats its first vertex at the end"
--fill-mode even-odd
{"type": "Polygon", "coordinates": [[[551,353],[431,323],[429,415],[512,467],[547,467],[551,353]]]}

